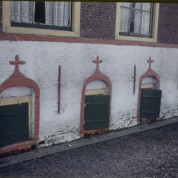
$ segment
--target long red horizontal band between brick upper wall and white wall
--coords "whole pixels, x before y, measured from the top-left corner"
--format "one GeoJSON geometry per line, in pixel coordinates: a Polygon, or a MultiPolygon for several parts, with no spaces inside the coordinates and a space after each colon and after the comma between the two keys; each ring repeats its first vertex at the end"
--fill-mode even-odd
{"type": "Polygon", "coordinates": [[[56,36],[41,36],[41,35],[22,35],[22,34],[0,34],[0,40],[48,41],[48,42],[92,43],[92,44],[111,44],[111,45],[178,48],[178,44],[149,43],[149,42],[122,41],[122,40],[106,40],[106,39],[93,39],[93,38],[71,38],[71,37],[56,37],[56,36]]]}

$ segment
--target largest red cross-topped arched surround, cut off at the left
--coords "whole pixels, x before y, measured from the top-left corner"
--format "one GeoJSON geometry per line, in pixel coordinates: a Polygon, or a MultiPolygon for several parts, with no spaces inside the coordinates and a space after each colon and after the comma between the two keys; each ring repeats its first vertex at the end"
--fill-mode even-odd
{"type": "Polygon", "coordinates": [[[9,87],[13,86],[28,86],[32,87],[35,91],[35,135],[33,140],[28,140],[24,142],[14,143],[11,145],[7,145],[0,148],[0,154],[4,154],[13,150],[22,150],[26,148],[30,148],[32,145],[36,144],[38,142],[38,135],[39,135],[39,115],[40,115],[40,90],[38,84],[29,79],[26,78],[24,75],[22,75],[18,69],[19,64],[25,64],[23,61],[19,61],[19,56],[15,56],[15,61],[9,62],[11,65],[15,65],[15,71],[14,73],[0,86],[0,93],[2,93],[3,90],[9,87]]]}

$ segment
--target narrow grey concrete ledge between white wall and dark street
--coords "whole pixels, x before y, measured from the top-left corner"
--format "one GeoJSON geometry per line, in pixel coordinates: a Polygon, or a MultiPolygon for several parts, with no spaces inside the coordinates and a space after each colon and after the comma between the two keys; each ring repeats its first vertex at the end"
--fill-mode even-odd
{"type": "Polygon", "coordinates": [[[106,133],[103,135],[98,135],[97,137],[92,137],[91,139],[76,140],[76,141],[72,141],[72,142],[68,142],[68,143],[63,143],[60,145],[40,148],[35,151],[30,151],[30,152],[21,153],[18,155],[8,156],[8,157],[0,159],[0,168],[7,167],[12,164],[17,164],[20,162],[29,161],[29,160],[36,159],[36,158],[41,158],[44,156],[49,156],[54,153],[67,151],[67,150],[79,148],[79,147],[86,146],[86,145],[91,145],[91,144],[98,143],[98,142],[104,142],[104,141],[115,139],[115,138],[122,137],[125,135],[134,134],[134,133],[138,133],[138,132],[143,132],[143,131],[163,127],[163,126],[177,123],[177,122],[178,122],[178,117],[174,117],[171,119],[157,121],[157,122],[153,122],[150,124],[138,125],[138,126],[128,128],[128,129],[113,131],[113,132],[106,133]]]}

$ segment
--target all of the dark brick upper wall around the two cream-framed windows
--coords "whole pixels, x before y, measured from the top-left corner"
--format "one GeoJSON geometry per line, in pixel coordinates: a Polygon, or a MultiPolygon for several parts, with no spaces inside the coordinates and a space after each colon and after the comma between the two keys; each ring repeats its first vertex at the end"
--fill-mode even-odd
{"type": "MultiPolygon", "coordinates": [[[[80,37],[114,39],[116,3],[82,2],[80,37]]],[[[158,43],[178,44],[178,4],[160,3],[158,43]]],[[[0,1],[0,34],[2,33],[2,1],[0,1]]]]}

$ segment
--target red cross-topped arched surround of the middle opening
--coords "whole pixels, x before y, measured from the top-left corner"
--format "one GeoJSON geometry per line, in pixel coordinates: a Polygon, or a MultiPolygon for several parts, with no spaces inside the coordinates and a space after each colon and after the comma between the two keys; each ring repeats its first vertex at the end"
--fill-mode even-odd
{"type": "Polygon", "coordinates": [[[109,128],[106,129],[97,129],[97,130],[84,130],[84,103],[85,103],[85,88],[87,86],[87,84],[93,80],[103,80],[107,83],[108,85],[108,90],[109,90],[109,95],[110,95],[110,109],[109,109],[109,125],[110,125],[110,118],[111,118],[111,91],[112,91],[112,87],[111,87],[111,82],[109,80],[108,77],[106,77],[104,74],[102,74],[99,70],[99,66],[98,63],[101,63],[102,60],[99,60],[99,57],[97,56],[97,59],[95,61],[93,61],[93,63],[97,63],[96,66],[96,70],[95,72],[88,77],[84,84],[83,84],[83,89],[82,89],[82,100],[81,100],[81,111],[80,111],[80,134],[89,134],[89,133],[95,133],[95,132],[102,132],[102,131],[107,131],[109,130],[109,128]]]}

